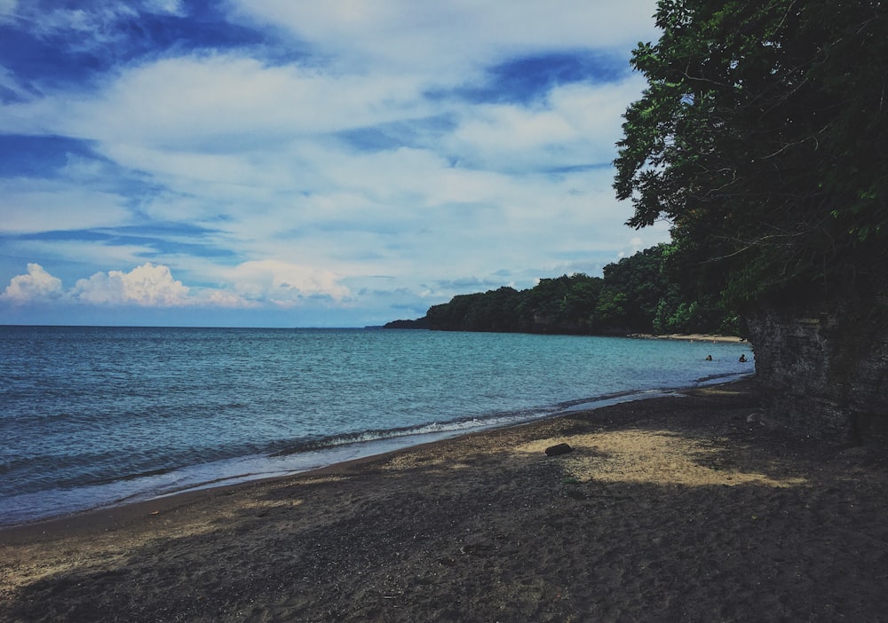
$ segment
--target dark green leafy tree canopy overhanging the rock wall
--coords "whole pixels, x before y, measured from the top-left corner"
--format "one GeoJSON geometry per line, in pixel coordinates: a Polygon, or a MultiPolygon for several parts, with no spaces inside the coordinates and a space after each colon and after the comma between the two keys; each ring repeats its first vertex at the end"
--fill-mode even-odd
{"type": "Polygon", "coordinates": [[[882,288],[888,19],[878,0],[661,0],[625,114],[629,225],[735,303],[882,288]]]}

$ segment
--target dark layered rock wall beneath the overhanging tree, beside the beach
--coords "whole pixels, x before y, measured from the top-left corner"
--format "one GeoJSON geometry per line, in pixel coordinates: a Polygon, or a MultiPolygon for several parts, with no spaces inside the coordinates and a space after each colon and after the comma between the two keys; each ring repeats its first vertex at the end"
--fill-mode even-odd
{"type": "Polygon", "coordinates": [[[768,422],[888,444],[888,305],[772,307],[748,318],[768,422]]]}

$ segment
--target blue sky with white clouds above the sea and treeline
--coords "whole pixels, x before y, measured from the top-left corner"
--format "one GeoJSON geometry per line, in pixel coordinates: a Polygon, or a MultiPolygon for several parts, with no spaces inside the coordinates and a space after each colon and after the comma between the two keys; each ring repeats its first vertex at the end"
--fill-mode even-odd
{"type": "Polygon", "coordinates": [[[0,324],[363,327],[669,240],[655,0],[0,0],[0,324]]]}

